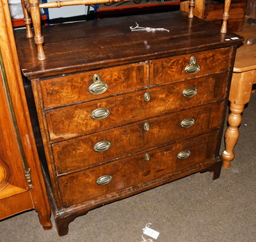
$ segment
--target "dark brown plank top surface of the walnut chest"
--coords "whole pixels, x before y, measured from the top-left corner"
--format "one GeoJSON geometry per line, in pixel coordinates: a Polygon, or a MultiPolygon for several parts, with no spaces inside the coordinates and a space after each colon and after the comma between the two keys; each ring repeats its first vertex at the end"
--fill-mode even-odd
{"type": "Polygon", "coordinates": [[[25,30],[15,31],[22,73],[29,79],[228,47],[242,41],[241,36],[221,34],[219,27],[196,17],[189,19],[182,11],[44,26],[42,32],[47,56],[38,61],[33,40],[26,38],[25,30]],[[169,32],[131,31],[136,23],[169,32]]]}

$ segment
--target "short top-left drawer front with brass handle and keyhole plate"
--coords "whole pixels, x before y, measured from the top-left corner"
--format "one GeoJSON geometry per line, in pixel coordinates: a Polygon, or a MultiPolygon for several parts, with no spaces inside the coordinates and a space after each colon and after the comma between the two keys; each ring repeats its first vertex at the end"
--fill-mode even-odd
{"type": "Polygon", "coordinates": [[[125,93],[147,86],[147,64],[138,63],[40,82],[45,109],[125,93]]]}

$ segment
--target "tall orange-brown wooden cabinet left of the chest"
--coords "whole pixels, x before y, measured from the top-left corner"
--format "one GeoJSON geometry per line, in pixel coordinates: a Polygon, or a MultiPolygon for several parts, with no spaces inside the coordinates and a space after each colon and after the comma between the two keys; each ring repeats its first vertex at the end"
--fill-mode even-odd
{"type": "Polygon", "coordinates": [[[51,209],[6,0],[0,1],[0,83],[0,219],[35,209],[49,229],[51,209]]]}

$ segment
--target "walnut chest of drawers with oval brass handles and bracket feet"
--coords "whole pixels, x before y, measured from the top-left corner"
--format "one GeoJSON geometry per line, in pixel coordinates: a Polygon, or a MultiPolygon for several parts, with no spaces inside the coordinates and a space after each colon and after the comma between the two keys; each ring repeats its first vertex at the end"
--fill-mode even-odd
{"type": "Polygon", "coordinates": [[[220,176],[240,36],[181,11],[43,31],[44,61],[23,31],[15,36],[60,235],[103,204],[195,172],[220,176]],[[135,22],[169,32],[131,32],[135,22]]]}

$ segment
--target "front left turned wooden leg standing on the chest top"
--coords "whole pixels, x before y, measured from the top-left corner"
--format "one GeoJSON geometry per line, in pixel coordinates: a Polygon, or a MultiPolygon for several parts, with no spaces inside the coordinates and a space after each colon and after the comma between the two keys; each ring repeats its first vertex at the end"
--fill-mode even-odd
{"type": "Polygon", "coordinates": [[[37,46],[37,57],[40,61],[45,59],[45,53],[43,48],[44,37],[41,33],[41,19],[40,19],[40,8],[38,0],[29,0],[29,7],[31,13],[31,19],[35,31],[35,43],[37,46]]]}

